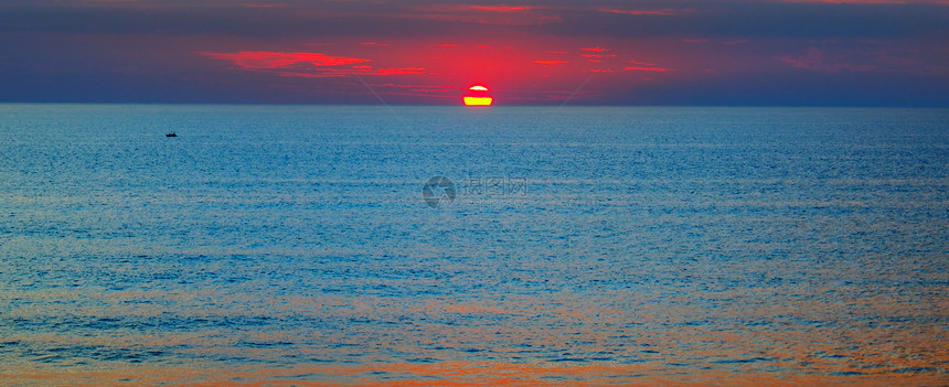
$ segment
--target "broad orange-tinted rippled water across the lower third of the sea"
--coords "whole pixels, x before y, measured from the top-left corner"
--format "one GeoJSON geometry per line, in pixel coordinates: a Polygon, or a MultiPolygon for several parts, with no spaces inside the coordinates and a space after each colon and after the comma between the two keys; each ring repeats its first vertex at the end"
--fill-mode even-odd
{"type": "Polygon", "coordinates": [[[340,323],[253,330],[209,325],[148,334],[118,326],[98,336],[23,330],[2,338],[29,353],[10,356],[0,380],[79,386],[126,378],[130,384],[209,386],[939,385],[949,364],[941,323],[949,310],[946,291],[755,286],[696,290],[687,297],[615,290],[477,299],[11,291],[0,300],[34,301],[7,315],[24,320],[134,323],[172,310],[223,322],[275,318],[340,323]],[[33,305],[84,298],[96,303],[33,305]],[[142,365],[90,352],[167,355],[142,357],[142,365]],[[66,359],[44,363],[55,356],[66,359]],[[235,358],[246,362],[231,361],[235,358]],[[192,359],[193,367],[182,366],[191,366],[192,359]]]}

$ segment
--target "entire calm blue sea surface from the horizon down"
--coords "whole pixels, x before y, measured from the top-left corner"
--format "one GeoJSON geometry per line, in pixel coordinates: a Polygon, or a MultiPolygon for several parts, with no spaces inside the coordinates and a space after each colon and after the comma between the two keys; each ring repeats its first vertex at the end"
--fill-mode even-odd
{"type": "Polygon", "coordinates": [[[0,105],[0,385],[949,384],[949,110],[0,105]]]}

